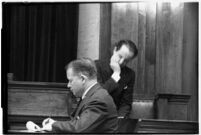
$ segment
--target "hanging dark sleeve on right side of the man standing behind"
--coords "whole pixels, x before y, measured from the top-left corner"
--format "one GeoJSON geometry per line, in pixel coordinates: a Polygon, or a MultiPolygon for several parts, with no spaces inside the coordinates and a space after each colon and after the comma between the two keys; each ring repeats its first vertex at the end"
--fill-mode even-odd
{"type": "Polygon", "coordinates": [[[133,86],[135,82],[135,72],[132,71],[131,79],[127,85],[127,88],[123,90],[123,97],[118,110],[118,116],[126,117],[131,111],[131,105],[133,101],[133,86]]]}

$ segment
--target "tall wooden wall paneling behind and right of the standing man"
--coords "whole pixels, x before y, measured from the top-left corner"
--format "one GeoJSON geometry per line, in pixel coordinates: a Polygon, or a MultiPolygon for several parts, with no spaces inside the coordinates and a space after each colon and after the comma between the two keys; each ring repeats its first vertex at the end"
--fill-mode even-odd
{"type": "Polygon", "coordinates": [[[136,72],[134,95],[189,94],[188,119],[197,120],[198,3],[111,3],[112,48],[120,39],[139,50],[128,64],[136,72]]]}

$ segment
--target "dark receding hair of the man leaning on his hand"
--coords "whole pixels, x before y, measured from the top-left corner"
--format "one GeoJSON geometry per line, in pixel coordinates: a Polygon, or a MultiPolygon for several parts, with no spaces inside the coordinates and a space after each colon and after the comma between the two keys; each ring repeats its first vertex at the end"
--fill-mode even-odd
{"type": "Polygon", "coordinates": [[[115,44],[117,51],[122,47],[122,45],[126,45],[128,47],[128,49],[133,52],[134,55],[132,58],[135,58],[137,56],[138,49],[137,49],[136,44],[134,42],[132,42],[131,40],[120,40],[119,42],[117,42],[115,44]]]}

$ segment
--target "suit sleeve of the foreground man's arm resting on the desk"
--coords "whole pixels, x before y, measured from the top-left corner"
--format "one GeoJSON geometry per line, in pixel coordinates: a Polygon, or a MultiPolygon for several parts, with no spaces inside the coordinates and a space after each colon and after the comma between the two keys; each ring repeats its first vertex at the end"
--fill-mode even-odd
{"type": "Polygon", "coordinates": [[[57,121],[52,125],[52,128],[54,132],[91,132],[104,120],[106,113],[105,103],[93,101],[84,108],[79,118],[73,118],[70,121],[57,121]]]}

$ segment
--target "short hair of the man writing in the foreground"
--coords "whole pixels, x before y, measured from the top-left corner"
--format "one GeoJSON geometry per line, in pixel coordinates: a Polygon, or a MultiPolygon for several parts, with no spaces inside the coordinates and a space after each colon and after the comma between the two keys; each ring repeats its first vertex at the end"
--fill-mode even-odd
{"type": "Polygon", "coordinates": [[[65,69],[72,68],[75,74],[82,73],[86,75],[89,79],[97,78],[97,69],[93,60],[89,58],[80,58],[71,61],[65,66],[65,69]]]}

